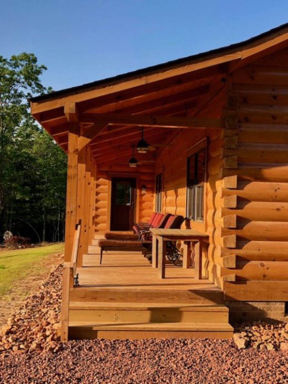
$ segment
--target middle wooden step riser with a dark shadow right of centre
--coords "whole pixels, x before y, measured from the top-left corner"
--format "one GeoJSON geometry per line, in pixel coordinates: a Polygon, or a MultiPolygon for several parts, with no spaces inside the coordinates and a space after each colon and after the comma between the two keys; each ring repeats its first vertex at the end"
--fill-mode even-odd
{"type": "Polygon", "coordinates": [[[228,323],[228,312],[177,310],[70,310],[70,321],[107,321],[108,323],[228,323]]]}

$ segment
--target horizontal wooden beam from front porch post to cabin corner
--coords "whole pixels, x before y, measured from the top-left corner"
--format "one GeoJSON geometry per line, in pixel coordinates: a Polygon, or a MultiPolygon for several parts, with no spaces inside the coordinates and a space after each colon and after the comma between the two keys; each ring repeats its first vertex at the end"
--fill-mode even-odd
{"type": "Polygon", "coordinates": [[[132,124],[143,127],[167,128],[222,128],[223,119],[195,119],[191,117],[122,115],[122,114],[89,114],[79,116],[81,122],[96,122],[112,125],[132,124]]]}

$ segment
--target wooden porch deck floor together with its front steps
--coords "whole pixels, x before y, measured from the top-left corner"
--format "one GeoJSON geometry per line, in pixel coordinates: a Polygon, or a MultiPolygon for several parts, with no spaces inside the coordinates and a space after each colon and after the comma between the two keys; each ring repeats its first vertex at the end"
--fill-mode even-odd
{"type": "Polygon", "coordinates": [[[70,290],[70,338],[229,338],[223,292],[194,270],[167,265],[165,279],[137,252],[104,252],[96,245],[70,290]]]}

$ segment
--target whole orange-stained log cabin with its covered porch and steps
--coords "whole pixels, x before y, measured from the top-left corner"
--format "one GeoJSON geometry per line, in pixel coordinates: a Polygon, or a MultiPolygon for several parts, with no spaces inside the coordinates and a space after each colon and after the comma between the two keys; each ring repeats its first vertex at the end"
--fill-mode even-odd
{"type": "MultiPolygon", "coordinates": [[[[68,156],[62,340],[228,338],[233,319],[285,318],[287,63],[285,24],[31,99],[68,156]],[[167,262],[161,279],[134,251],[99,265],[106,231],[131,231],[154,211],[206,236],[201,279],[192,262],[167,262]]],[[[191,243],[177,247],[187,262],[191,243]]]]}

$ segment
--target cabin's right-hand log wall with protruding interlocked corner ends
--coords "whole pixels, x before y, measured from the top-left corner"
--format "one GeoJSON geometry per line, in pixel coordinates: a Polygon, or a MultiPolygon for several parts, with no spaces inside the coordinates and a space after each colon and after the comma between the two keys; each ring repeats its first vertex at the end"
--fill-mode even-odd
{"type": "Polygon", "coordinates": [[[222,149],[221,157],[230,162],[223,176],[237,177],[237,187],[219,187],[216,204],[220,217],[236,218],[235,228],[219,228],[222,238],[236,236],[236,242],[218,246],[214,256],[235,260],[234,268],[218,268],[224,280],[235,275],[235,283],[224,283],[228,300],[265,300],[272,282],[278,300],[288,300],[287,58],[285,49],[232,73],[224,115],[235,116],[238,126],[224,137],[237,145],[222,149]],[[225,199],[230,206],[221,204],[225,199]]]}

